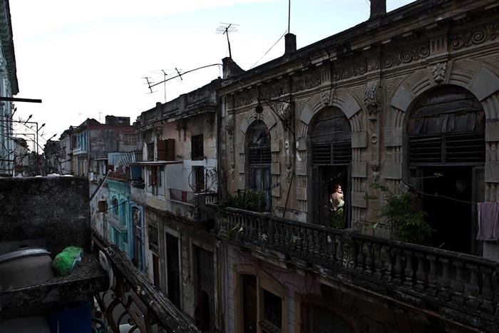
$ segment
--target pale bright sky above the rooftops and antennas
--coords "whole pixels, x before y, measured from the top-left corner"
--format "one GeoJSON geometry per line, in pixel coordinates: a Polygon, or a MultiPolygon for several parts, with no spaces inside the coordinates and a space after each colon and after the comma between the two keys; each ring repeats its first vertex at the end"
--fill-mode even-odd
{"type": "MultiPolygon", "coordinates": [[[[391,11],[413,1],[387,0],[391,11]]],[[[243,69],[282,56],[287,0],[11,0],[19,98],[14,118],[46,125],[43,138],[56,139],[86,118],[129,116],[170,101],[218,76],[212,66],[152,83],[228,56],[227,39],[216,30],[238,24],[230,34],[232,59],[243,69]],[[270,49],[270,51],[269,51],[270,49]],[[268,53],[267,53],[268,51],[268,53]],[[267,53],[267,54],[266,54],[267,53]]],[[[369,18],[368,0],[292,0],[290,31],[301,48],[369,18]]],[[[19,125],[16,132],[30,133],[19,125]]],[[[44,144],[41,140],[40,145],[44,144]]]]}

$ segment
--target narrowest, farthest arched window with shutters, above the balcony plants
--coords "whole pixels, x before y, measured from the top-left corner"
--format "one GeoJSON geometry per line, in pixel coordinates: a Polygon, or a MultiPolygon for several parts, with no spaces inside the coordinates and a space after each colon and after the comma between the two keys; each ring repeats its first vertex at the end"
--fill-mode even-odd
{"type": "Polygon", "coordinates": [[[260,210],[269,210],[270,201],[270,133],[263,121],[255,121],[247,133],[248,187],[264,193],[260,210]]]}

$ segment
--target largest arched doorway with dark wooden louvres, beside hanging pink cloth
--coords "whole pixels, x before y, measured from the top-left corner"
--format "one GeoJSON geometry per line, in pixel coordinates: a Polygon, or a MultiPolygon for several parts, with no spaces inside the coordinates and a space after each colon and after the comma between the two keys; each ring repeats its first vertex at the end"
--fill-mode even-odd
{"type": "Polygon", "coordinates": [[[474,202],[485,194],[485,114],[472,93],[445,86],[418,98],[407,123],[408,172],[434,229],[431,245],[480,255],[474,202]]]}

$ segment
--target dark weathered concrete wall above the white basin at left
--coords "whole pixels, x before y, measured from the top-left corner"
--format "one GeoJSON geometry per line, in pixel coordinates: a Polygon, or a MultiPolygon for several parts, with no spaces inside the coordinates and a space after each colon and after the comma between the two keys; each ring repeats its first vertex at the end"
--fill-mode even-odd
{"type": "Polygon", "coordinates": [[[0,179],[0,242],[44,240],[52,253],[75,245],[90,250],[88,179],[0,179]]]}

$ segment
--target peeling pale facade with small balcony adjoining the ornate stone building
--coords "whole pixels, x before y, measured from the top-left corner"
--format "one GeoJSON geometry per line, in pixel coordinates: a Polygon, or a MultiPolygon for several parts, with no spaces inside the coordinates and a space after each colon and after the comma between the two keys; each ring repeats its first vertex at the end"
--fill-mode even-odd
{"type": "MultiPolygon", "coordinates": [[[[150,280],[202,332],[221,323],[220,257],[206,202],[217,193],[216,89],[220,78],[140,115],[142,190],[150,280]]],[[[140,193],[140,191],[142,191],[140,193]]]]}

